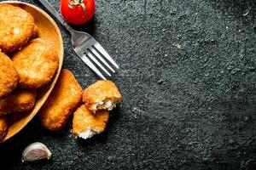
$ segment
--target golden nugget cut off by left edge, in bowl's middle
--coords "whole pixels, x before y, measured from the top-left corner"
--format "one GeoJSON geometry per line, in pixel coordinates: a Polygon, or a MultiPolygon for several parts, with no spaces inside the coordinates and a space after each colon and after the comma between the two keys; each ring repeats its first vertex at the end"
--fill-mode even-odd
{"type": "Polygon", "coordinates": [[[0,98],[10,94],[17,87],[18,82],[19,77],[14,63],[7,55],[0,52],[0,98]]]}

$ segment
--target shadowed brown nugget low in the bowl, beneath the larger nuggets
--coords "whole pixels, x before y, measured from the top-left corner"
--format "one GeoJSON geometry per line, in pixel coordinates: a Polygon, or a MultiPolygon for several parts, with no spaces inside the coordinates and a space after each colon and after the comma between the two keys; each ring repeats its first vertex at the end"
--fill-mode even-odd
{"type": "Polygon", "coordinates": [[[21,111],[30,111],[36,102],[37,91],[16,88],[14,92],[0,99],[0,116],[21,111]]]}

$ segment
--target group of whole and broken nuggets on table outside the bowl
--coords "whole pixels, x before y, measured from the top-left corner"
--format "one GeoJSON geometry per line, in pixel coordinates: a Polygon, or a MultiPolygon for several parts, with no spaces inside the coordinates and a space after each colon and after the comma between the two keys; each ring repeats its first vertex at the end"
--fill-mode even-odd
{"type": "Polygon", "coordinates": [[[51,131],[65,127],[73,114],[73,136],[89,139],[106,128],[109,111],[121,102],[119,89],[111,81],[100,80],[84,89],[71,71],[61,70],[55,88],[49,95],[39,118],[51,131]]]}

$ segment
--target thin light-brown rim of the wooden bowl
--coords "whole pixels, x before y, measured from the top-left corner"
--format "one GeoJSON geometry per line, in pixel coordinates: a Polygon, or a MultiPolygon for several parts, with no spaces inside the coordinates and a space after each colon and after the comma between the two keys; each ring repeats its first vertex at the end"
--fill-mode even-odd
{"type": "Polygon", "coordinates": [[[49,97],[49,94],[51,93],[51,91],[53,90],[53,88],[55,87],[55,83],[60,75],[60,72],[61,72],[61,67],[62,67],[62,64],[63,64],[63,58],[64,58],[64,47],[63,47],[63,40],[62,40],[62,37],[61,37],[61,31],[59,29],[59,27],[57,26],[57,24],[55,23],[55,20],[53,20],[49,14],[47,14],[43,9],[41,8],[38,8],[37,6],[35,5],[32,5],[31,3],[24,3],[24,2],[19,2],[19,1],[3,1],[3,2],[0,2],[0,3],[8,3],[8,4],[24,4],[26,6],[29,6],[31,8],[35,8],[39,13],[41,14],[44,14],[44,16],[50,21],[50,23],[55,27],[55,31],[57,32],[58,34],[58,37],[60,39],[60,44],[61,44],[61,49],[59,51],[59,65],[58,65],[58,69],[56,70],[55,72],[55,76],[53,77],[52,81],[49,83],[49,87],[46,91],[46,93],[44,94],[44,98],[41,100],[41,105],[39,105],[37,108],[34,108],[32,109],[32,113],[28,115],[27,119],[26,119],[26,122],[24,122],[22,124],[22,126],[20,126],[17,130],[16,133],[12,133],[11,135],[5,135],[5,137],[3,138],[3,140],[0,141],[0,143],[3,143],[5,141],[7,141],[8,139],[11,139],[12,137],[15,136],[15,134],[17,133],[20,133],[20,131],[26,127],[26,125],[28,124],[28,122],[31,122],[32,118],[34,116],[37,115],[38,111],[41,109],[41,107],[44,105],[46,99],[48,99],[49,97]],[[53,85],[52,85],[53,84],[53,85]]]}

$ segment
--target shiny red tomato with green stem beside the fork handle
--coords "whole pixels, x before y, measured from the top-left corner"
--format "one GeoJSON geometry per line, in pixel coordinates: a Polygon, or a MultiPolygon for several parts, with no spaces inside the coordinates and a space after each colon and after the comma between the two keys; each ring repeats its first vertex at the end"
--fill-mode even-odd
{"type": "Polygon", "coordinates": [[[84,24],[93,17],[94,13],[94,0],[61,0],[61,14],[70,24],[84,24]]]}

